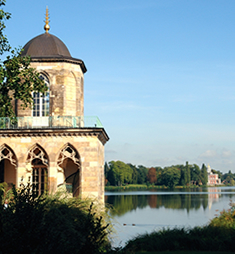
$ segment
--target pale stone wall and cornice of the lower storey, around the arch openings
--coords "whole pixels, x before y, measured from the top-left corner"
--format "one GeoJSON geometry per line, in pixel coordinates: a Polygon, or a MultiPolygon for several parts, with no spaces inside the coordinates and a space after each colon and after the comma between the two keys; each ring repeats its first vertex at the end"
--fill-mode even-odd
{"type": "MultiPolygon", "coordinates": [[[[16,186],[32,181],[29,152],[35,145],[48,158],[49,191],[64,182],[63,169],[58,165],[61,150],[70,145],[79,157],[79,190],[82,198],[93,196],[104,201],[104,129],[66,130],[0,130],[0,147],[7,144],[16,156],[16,186]]],[[[64,155],[66,157],[66,154],[64,155]]],[[[69,156],[68,156],[69,158],[69,156]]],[[[73,158],[70,158],[73,159],[73,158]]]]}

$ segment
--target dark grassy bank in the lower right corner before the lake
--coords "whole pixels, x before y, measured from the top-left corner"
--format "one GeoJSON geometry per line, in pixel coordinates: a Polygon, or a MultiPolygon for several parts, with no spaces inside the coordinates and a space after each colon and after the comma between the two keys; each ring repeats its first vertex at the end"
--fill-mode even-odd
{"type": "Polygon", "coordinates": [[[122,253],[140,251],[235,251],[235,207],[203,227],[163,229],[128,241],[122,253]]]}

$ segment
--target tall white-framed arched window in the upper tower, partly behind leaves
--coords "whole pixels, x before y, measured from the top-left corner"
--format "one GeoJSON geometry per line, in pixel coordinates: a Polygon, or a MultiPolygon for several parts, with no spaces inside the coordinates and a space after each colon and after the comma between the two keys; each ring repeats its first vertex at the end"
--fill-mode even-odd
{"type": "MultiPolygon", "coordinates": [[[[42,79],[45,85],[49,88],[49,79],[46,75],[40,74],[40,79],[42,79]]],[[[33,102],[34,107],[32,110],[32,116],[34,117],[43,117],[49,116],[49,109],[50,109],[50,97],[49,91],[45,92],[44,94],[33,92],[33,102]]]]}

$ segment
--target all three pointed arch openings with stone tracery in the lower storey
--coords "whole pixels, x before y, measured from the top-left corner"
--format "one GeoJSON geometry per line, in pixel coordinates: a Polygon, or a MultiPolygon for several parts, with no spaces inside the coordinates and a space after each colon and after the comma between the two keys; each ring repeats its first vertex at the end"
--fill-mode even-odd
{"type": "MultiPolygon", "coordinates": [[[[0,182],[6,182],[11,187],[16,185],[17,178],[17,158],[14,151],[7,145],[2,145],[0,149],[0,182]]],[[[34,191],[37,195],[49,191],[48,170],[49,157],[44,149],[35,144],[27,153],[26,163],[28,164],[29,172],[28,182],[32,183],[34,191]]],[[[80,172],[80,157],[76,149],[70,144],[66,144],[59,151],[57,160],[59,182],[57,185],[65,185],[73,196],[79,195],[79,172],[80,172]]],[[[21,178],[23,181],[23,176],[21,178]]]]}

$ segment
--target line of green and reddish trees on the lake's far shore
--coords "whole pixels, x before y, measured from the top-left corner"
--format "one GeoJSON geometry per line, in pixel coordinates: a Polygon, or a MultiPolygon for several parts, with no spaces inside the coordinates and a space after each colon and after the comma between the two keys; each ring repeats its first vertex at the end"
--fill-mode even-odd
{"type": "MultiPolygon", "coordinates": [[[[228,171],[222,172],[212,169],[214,174],[218,174],[221,183],[225,185],[235,185],[235,174],[228,171]]],[[[207,167],[202,164],[172,165],[169,167],[135,166],[122,161],[110,161],[105,163],[105,184],[106,186],[127,186],[147,185],[154,187],[176,186],[206,186],[208,182],[207,167]]],[[[143,187],[144,188],[144,187],[143,187]]]]}

